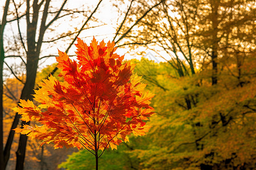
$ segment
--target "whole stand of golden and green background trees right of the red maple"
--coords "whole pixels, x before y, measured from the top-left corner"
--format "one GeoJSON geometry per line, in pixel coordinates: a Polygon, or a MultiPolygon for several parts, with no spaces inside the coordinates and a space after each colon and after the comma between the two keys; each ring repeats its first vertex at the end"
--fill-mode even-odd
{"type": "MultiPolygon", "coordinates": [[[[149,3],[131,6],[126,19],[149,3]]],[[[158,113],[150,142],[127,147],[139,169],[255,168],[254,14],[253,1],[165,1],[126,34],[122,46],[146,46],[167,60],[132,61],[158,113]]]]}

